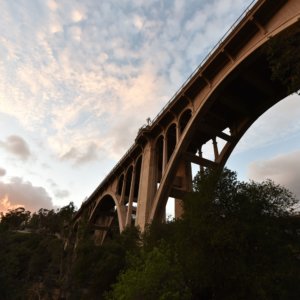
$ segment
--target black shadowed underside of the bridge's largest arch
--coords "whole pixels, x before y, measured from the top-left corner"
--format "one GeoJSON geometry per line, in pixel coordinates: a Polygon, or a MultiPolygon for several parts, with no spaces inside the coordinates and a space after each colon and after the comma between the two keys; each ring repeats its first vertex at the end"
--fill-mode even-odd
{"type": "MultiPolygon", "coordinates": [[[[190,129],[178,163],[183,159],[202,168],[223,167],[246,130],[285,96],[286,87],[272,80],[266,51],[264,48],[259,49],[223,80],[203,105],[190,129]],[[223,140],[223,148],[218,147],[218,140],[223,140]],[[213,160],[203,157],[202,147],[207,142],[211,142],[213,160]]],[[[168,193],[176,198],[178,194],[174,193],[175,183],[172,178],[174,176],[170,176],[172,184],[169,183],[171,188],[168,193]]],[[[184,193],[180,198],[183,196],[184,193]]],[[[165,205],[165,202],[160,202],[154,217],[163,217],[165,205]]]]}

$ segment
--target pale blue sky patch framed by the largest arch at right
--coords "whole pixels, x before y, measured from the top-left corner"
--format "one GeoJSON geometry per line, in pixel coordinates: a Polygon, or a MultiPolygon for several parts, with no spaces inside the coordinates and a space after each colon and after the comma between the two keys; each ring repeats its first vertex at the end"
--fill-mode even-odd
{"type": "Polygon", "coordinates": [[[233,149],[226,166],[240,180],[273,180],[300,198],[300,96],[286,97],[253,123],[233,149]],[[283,113],[284,112],[284,113],[283,113]],[[274,130],[278,128],[280,130],[274,130]]]}

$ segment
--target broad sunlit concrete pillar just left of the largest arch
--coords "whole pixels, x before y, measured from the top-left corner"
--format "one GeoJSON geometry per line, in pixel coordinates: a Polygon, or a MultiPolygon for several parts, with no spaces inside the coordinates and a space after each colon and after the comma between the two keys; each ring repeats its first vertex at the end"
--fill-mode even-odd
{"type": "Polygon", "coordinates": [[[135,225],[139,226],[142,231],[144,231],[147,220],[149,219],[152,201],[156,192],[155,174],[155,148],[149,141],[143,150],[137,215],[135,221],[135,225]]]}

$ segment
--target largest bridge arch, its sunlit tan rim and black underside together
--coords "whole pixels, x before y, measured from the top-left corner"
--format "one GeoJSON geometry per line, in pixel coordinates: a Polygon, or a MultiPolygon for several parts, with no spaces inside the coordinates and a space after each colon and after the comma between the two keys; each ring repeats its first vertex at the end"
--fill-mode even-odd
{"type": "MultiPolygon", "coordinates": [[[[271,33],[274,34],[273,38],[296,24],[298,21],[295,20],[295,23],[279,24],[271,33]]],[[[152,222],[153,219],[161,219],[170,193],[172,178],[185,154],[191,162],[194,159],[208,163],[195,155],[189,155],[191,141],[194,146],[196,140],[196,146],[201,149],[201,146],[210,139],[218,136],[226,139],[226,144],[218,157],[214,162],[209,162],[216,168],[222,168],[241,137],[257,118],[288,96],[286,86],[279,81],[271,80],[270,65],[263,47],[267,42],[268,36],[262,36],[261,40],[245,51],[243,56],[231,62],[222,77],[210,85],[209,92],[203,97],[190,122],[186,124],[170,157],[147,223],[152,222]],[[230,135],[223,134],[226,128],[230,128],[230,135]]]]}

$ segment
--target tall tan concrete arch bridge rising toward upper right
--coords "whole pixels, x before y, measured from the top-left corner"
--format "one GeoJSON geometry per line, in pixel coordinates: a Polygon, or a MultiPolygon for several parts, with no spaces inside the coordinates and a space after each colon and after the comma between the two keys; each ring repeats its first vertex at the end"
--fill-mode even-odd
{"type": "Polygon", "coordinates": [[[192,188],[191,163],[224,166],[251,124],[287,96],[286,87],[271,79],[264,45],[299,26],[299,19],[299,0],[252,3],[151,124],[139,130],[133,146],[82,204],[73,235],[83,218],[99,244],[110,228],[143,230],[163,219],[169,197],[176,199],[179,217],[180,199],[192,188]],[[202,156],[207,142],[214,159],[202,156]]]}

